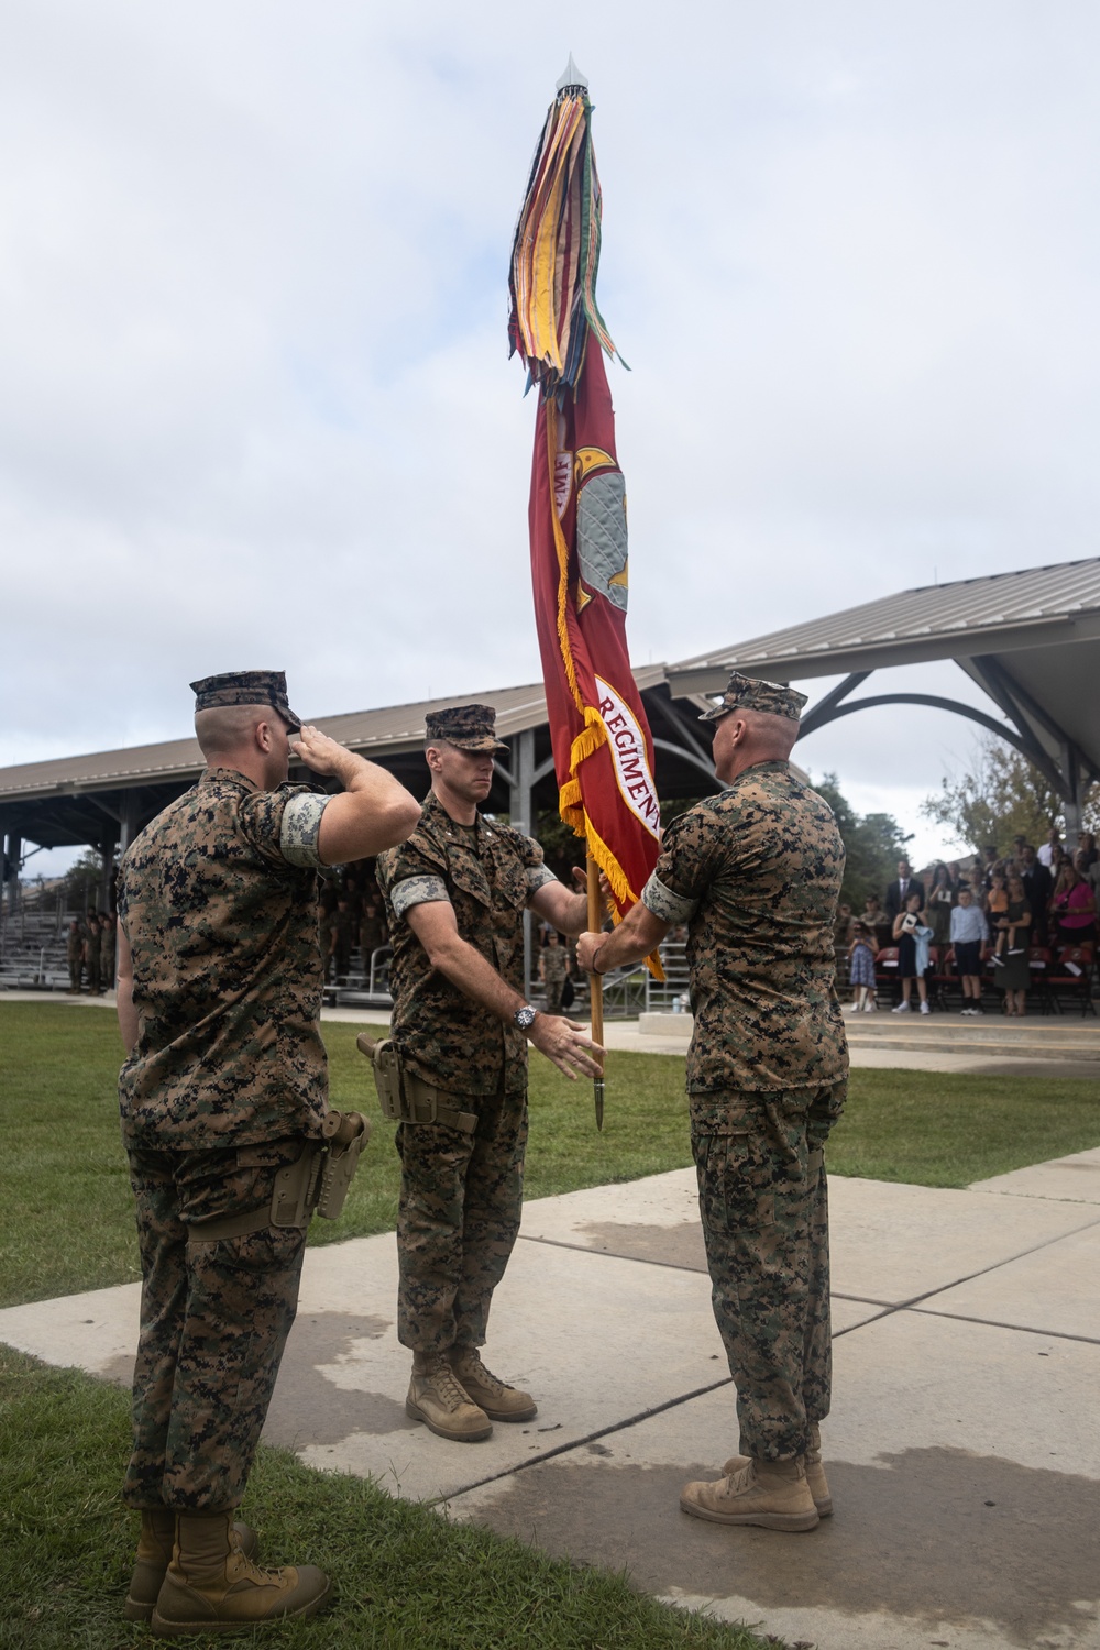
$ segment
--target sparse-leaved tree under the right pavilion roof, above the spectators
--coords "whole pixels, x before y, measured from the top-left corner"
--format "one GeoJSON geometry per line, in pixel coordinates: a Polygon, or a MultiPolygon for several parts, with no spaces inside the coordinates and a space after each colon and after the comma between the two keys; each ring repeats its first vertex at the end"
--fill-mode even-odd
{"type": "MultiPolygon", "coordinates": [[[[945,774],[940,795],[925,797],[920,812],[973,853],[981,853],[986,843],[996,843],[999,853],[1008,853],[1018,835],[1039,846],[1052,825],[1065,830],[1064,802],[1057,790],[1026,756],[994,734],[975,741],[970,767],[961,774],[945,774]]],[[[1088,789],[1082,812],[1085,828],[1097,830],[1100,785],[1088,789]]]]}

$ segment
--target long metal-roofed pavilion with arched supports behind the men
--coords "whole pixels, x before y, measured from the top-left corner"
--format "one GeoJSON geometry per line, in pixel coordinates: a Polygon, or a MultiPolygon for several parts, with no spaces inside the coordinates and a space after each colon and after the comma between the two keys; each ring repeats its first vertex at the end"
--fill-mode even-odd
{"type": "MultiPolygon", "coordinates": [[[[678,665],[637,670],[661,797],[714,789],[709,739],[698,716],[732,670],[772,681],[839,675],[843,680],[803,716],[801,738],[877,705],[924,705],[966,716],[1039,769],[1062,797],[1067,830],[1075,833],[1084,792],[1100,777],[1100,558],[902,591],[678,665]],[[952,658],[983,690],[988,710],[917,691],[853,698],[876,670],[952,658]]],[[[539,810],[556,807],[557,795],[541,683],[315,721],[419,795],[427,789],[425,714],[477,701],[496,706],[498,733],[508,744],[488,807],[529,830],[539,810]]],[[[5,876],[18,874],[28,843],[91,845],[109,868],[115,850],[201,771],[193,738],[0,769],[5,876]]]]}

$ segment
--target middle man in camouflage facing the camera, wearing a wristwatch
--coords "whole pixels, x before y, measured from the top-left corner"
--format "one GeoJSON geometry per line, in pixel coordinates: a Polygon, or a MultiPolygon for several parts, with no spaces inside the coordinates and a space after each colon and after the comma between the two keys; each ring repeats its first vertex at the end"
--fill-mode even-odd
{"type": "Polygon", "coordinates": [[[432,713],[421,823],[378,861],[394,947],[391,1035],[411,1109],[397,1125],[406,1411],[458,1442],[536,1414],[531,1394],[498,1381],[478,1353],[519,1231],[528,1038],[571,1077],[594,1076],[592,1053],[602,1053],[523,997],[524,909],[579,934],[587,903],[562,888],[531,837],[478,813],[503,749],[490,706],[432,713]]]}

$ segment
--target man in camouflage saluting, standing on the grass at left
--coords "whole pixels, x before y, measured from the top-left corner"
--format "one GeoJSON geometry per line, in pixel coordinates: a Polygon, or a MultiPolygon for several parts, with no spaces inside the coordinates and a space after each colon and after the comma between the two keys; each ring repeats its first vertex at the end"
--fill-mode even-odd
{"type": "Polygon", "coordinates": [[[277,1176],[308,1167],[328,1110],[317,871],[401,842],[421,813],[383,769],[300,726],[282,672],[193,688],[206,772],[119,876],[119,1099],[142,1256],[125,1614],[162,1637],[312,1615],[328,1596],[312,1566],[259,1569],[233,1511],[308,1224],[274,1223],[277,1176]],[[343,792],[289,785],[292,751],[343,792]]]}

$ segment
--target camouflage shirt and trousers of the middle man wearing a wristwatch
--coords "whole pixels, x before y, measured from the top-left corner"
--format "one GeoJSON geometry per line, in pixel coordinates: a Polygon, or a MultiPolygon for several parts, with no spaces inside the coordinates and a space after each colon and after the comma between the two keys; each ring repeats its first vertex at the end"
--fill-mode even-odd
{"type": "Polygon", "coordinates": [[[457,825],[434,794],[412,837],[379,855],[394,947],[391,1036],[404,1066],[477,1129],[399,1124],[397,1335],[416,1353],[483,1346],[493,1289],[519,1231],[528,1138],[524,1035],[429,965],[406,922],[449,899],[458,934],[523,992],[523,912],[554,881],[543,850],[508,825],[457,825]]]}

